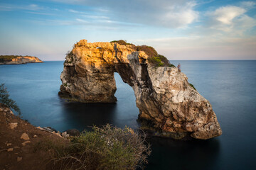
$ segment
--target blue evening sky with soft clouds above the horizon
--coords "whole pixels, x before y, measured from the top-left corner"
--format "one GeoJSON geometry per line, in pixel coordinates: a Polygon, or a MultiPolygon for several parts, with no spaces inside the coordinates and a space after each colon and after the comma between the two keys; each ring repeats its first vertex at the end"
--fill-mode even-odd
{"type": "Polygon", "coordinates": [[[169,60],[256,60],[256,0],[0,0],[0,55],[127,40],[169,60]]]}

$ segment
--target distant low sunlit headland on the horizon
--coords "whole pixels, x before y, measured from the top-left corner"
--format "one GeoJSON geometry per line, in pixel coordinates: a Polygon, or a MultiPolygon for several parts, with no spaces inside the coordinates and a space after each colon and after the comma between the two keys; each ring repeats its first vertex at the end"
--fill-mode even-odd
{"type": "Polygon", "coordinates": [[[42,60],[33,56],[19,55],[0,55],[0,65],[2,64],[26,64],[26,63],[41,63],[42,60]]]}

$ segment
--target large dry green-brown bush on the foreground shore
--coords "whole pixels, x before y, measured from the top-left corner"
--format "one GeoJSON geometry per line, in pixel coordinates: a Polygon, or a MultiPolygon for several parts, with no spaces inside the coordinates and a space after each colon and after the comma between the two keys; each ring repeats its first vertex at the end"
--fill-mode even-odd
{"type": "Polygon", "coordinates": [[[62,169],[143,169],[151,153],[145,135],[130,128],[105,125],[72,137],[68,145],[41,143],[54,151],[53,160],[62,169]]]}

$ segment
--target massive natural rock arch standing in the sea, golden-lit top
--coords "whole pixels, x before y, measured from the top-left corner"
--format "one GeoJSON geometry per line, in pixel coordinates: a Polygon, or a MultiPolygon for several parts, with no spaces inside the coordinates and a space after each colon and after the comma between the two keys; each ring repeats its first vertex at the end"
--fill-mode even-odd
{"type": "Polygon", "coordinates": [[[117,101],[114,72],[132,86],[142,128],[181,139],[222,134],[210,103],[176,67],[154,67],[144,51],[116,42],[80,40],[65,58],[59,95],[80,102],[117,101]]]}

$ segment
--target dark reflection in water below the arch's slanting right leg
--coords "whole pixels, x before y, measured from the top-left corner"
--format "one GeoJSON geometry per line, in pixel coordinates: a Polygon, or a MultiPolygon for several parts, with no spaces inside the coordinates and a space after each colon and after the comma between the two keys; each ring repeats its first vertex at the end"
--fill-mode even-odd
{"type": "Polygon", "coordinates": [[[211,140],[171,140],[151,137],[152,153],[146,169],[216,169],[220,142],[211,140]]]}

